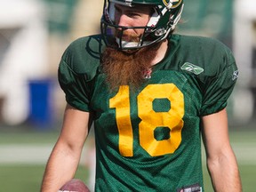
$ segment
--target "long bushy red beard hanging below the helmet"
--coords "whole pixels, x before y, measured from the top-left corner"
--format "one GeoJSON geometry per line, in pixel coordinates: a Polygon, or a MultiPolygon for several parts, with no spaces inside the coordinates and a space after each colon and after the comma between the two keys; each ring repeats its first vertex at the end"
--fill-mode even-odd
{"type": "Polygon", "coordinates": [[[143,72],[151,68],[151,61],[156,57],[160,44],[140,48],[137,52],[121,52],[107,47],[102,55],[102,69],[107,76],[107,83],[111,90],[120,85],[140,86],[145,80],[143,72]]]}

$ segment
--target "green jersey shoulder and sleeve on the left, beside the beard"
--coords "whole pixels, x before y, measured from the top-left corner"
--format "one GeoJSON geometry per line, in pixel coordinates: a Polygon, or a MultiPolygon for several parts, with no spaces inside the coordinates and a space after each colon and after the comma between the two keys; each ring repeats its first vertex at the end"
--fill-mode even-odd
{"type": "Polygon", "coordinates": [[[100,65],[97,36],[77,39],[63,53],[58,80],[66,94],[66,100],[74,108],[90,111],[93,78],[100,65]]]}

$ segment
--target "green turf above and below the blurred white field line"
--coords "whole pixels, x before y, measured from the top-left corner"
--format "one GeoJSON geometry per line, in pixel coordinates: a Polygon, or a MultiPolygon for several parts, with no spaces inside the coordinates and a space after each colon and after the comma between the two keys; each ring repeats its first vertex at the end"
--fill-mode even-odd
{"type": "MultiPolygon", "coordinates": [[[[0,132],[0,145],[6,144],[53,144],[59,132],[0,132]]],[[[256,151],[256,132],[230,132],[230,140],[234,145],[250,143],[256,151]]],[[[1,156],[1,154],[0,154],[1,156]]],[[[46,163],[46,162],[45,162],[46,163]]],[[[204,161],[205,164],[205,161],[204,161]]],[[[256,164],[238,162],[245,192],[255,191],[256,164]]],[[[0,191],[36,192],[39,191],[44,173],[42,165],[0,164],[0,191]]],[[[87,170],[80,166],[76,177],[86,181],[87,170]]],[[[213,192],[211,180],[204,165],[205,192],[213,192]]]]}

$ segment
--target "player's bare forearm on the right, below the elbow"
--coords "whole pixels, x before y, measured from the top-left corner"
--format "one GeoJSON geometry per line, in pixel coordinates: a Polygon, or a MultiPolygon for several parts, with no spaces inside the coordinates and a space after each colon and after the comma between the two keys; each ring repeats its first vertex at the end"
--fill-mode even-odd
{"type": "Polygon", "coordinates": [[[212,178],[212,187],[216,192],[241,192],[242,184],[233,152],[229,156],[208,160],[208,169],[212,178]]]}

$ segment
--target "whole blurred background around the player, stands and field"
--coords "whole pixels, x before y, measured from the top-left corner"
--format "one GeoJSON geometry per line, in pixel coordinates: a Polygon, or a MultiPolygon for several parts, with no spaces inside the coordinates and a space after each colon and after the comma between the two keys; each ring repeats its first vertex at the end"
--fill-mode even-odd
{"type": "MultiPolygon", "coordinates": [[[[76,38],[100,33],[103,0],[0,4],[0,186],[14,191],[9,184],[14,180],[20,191],[38,191],[65,108],[57,82],[60,57],[76,38]],[[27,177],[14,178],[24,172],[27,177]]],[[[176,33],[212,36],[234,52],[239,79],[228,100],[230,137],[243,168],[244,191],[254,191],[248,178],[256,173],[256,1],[185,1],[176,33]]],[[[77,177],[91,180],[93,137],[86,142],[77,177]]]]}

